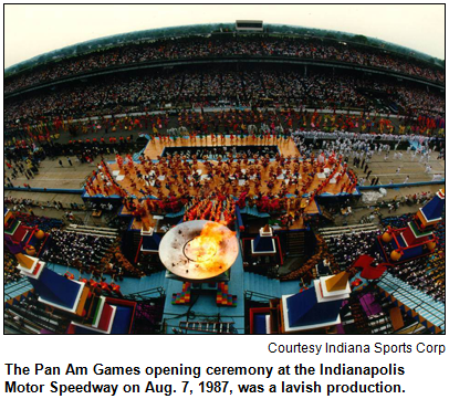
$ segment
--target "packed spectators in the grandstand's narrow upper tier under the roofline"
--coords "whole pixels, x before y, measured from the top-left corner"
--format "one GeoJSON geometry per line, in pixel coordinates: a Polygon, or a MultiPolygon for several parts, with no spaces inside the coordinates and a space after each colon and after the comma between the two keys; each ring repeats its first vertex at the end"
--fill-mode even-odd
{"type": "Polygon", "coordinates": [[[224,56],[282,56],[337,61],[365,66],[375,66],[419,76],[442,83],[442,70],[418,60],[405,59],[382,50],[347,45],[347,43],[322,42],[302,39],[234,38],[226,40],[190,39],[167,40],[140,45],[124,45],[86,55],[73,56],[58,63],[41,65],[30,72],[12,75],[6,81],[4,92],[14,91],[55,81],[71,75],[88,73],[101,69],[163,60],[182,60],[224,56]]]}

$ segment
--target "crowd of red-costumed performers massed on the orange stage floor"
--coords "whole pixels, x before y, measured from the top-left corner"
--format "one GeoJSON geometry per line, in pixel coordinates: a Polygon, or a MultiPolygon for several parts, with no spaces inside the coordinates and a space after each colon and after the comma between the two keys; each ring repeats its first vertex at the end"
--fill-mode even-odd
{"type": "MultiPolygon", "coordinates": [[[[247,154],[228,154],[227,158],[218,156],[217,160],[206,156],[199,160],[196,155],[187,159],[175,154],[153,161],[140,155],[138,162],[129,155],[125,159],[116,155],[116,164],[118,170],[115,171],[105,161],[98,164],[86,181],[86,192],[91,197],[116,195],[123,198],[126,209],[138,220],[146,214],[179,211],[192,198],[217,200],[218,207],[231,196],[241,200],[242,195],[248,200],[255,198],[254,204],[261,211],[297,210],[301,214],[331,185],[334,193],[353,193],[357,185],[355,174],[343,157],[337,158],[334,153],[327,159],[324,154],[315,158],[312,153],[309,159],[276,154],[274,160],[257,154],[252,159],[247,154]],[[122,180],[118,176],[123,176],[122,180]]],[[[211,204],[194,202],[191,207],[195,212],[212,212],[211,204]]]]}

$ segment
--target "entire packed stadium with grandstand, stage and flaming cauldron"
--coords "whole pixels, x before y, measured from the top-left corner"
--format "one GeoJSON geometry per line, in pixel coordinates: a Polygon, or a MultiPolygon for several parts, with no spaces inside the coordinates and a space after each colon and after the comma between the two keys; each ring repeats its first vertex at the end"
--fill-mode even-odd
{"type": "Polygon", "coordinates": [[[445,62],[263,21],[4,71],[4,333],[445,334],[445,62]]]}

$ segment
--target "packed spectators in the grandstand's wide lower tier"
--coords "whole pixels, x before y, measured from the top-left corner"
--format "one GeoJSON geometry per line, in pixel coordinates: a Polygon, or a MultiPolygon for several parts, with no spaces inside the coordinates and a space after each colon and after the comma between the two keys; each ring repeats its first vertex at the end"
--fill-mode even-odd
{"type": "MultiPolygon", "coordinates": [[[[58,91],[10,98],[4,106],[7,129],[35,126],[45,135],[54,125],[71,119],[105,114],[147,112],[166,107],[267,106],[356,108],[417,117],[441,118],[445,97],[399,83],[376,83],[349,75],[299,72],[166,72],[156,75],[128,75],[104,81],[65,85],[58,91]],[[362,88],[382,91],[380,103],[362,88]],[[391,107],[393,104],[393,107],[391,107]]],[[[437,126],[436,126],[437,127],[437,126]]]]}

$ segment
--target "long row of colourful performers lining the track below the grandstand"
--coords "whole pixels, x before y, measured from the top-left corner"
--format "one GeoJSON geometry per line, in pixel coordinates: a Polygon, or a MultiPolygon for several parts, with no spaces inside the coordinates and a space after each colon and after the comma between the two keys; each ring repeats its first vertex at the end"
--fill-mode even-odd
{"type": "MultiPolygon", "coordinates": [[[[75,120],[73,117],[56,117],[55,120],[43,117],[35,125],[25,124],[11,135],[6,135],[6,143],[14,145],[18,139],[33,140],[34,143],[45,143],[60,137],[60,135],[92,135],[97,134],[98,138],[92,143],[100,141],[119,145],[128,140],[128,135],[133,132],[145,132],[150,137],[170,136],[173,138],[186,136],[189,133],[201,135],[250,134],[252,126],[263,125],[272,129],[284,130],[320,130],[323,133],[354,132],[370,135],[421,135],[442,136],[445,132],[445,118],[428,116],[399,116],[398,124],[393,123],[390,115],[380,116],[377,112],[361,111],[357,114],[338,114],[335,107],[328,107],[328,112],[323,114],[316,109],[306,111],[300,108],[247,108],[247,109],[220,109],[215,112],[203,112],[184,109],[178,115],[170,116],[167,112],[148,113],[143,111],[135,116],[113,116],[111,118],[102,115],[98,118],[75,120]],[[45,123],[46,120],[46,123],[45,123]],[[124,132],[121,140],[114,141],[109,137],[111,133],[124,132]]],[[[75,141],[79,141],[79,138],[75,141]]]]}

